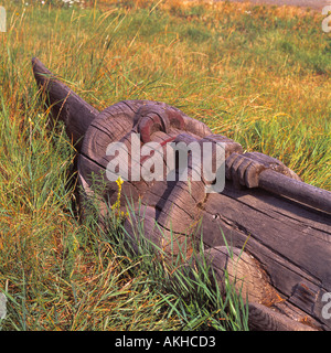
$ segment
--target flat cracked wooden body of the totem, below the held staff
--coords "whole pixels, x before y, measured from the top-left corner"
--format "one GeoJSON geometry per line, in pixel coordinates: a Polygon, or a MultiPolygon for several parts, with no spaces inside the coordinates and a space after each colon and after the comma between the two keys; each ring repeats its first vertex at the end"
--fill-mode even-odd
{"type": "Polygon", "coordinates": [[[319,293],[331,291],[328,215],[263,190],[235,190],[231,184],[222,194],[211,194],[204,210],[203,240],[207,247],[222,246],[224,239],[233,247],[244,246],[284,300],[330,328],[330,320],[316,310],[319,293]],[[313,295],[301,300],[299,284],[313,295]]]}

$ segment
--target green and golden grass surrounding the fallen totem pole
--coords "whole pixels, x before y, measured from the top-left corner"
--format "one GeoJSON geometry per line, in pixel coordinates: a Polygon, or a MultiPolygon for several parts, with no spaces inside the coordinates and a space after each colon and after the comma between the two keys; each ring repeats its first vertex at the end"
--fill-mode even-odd
{"type": "Polygon", "coordinates": [[[79,224],[74,149],[62,128],[46,128],[31,57],[98,109],[167,101],[331,190],[331,38],[321,15],[226,2],[2,6],[0,289],[9,303],[1,328],[246,329],[231,290],[224,303],[202,278],[197,290],[168,293],[152,255],[131,259],[117,232],[104,234],[93,218],[79,224]]]}

